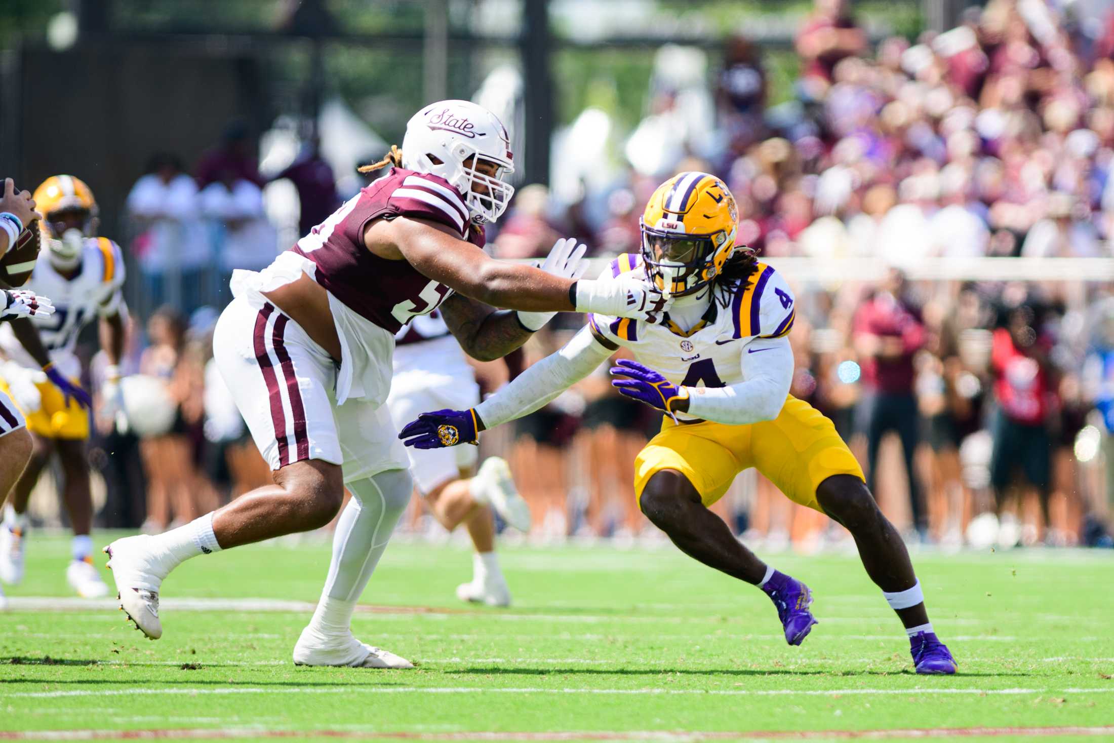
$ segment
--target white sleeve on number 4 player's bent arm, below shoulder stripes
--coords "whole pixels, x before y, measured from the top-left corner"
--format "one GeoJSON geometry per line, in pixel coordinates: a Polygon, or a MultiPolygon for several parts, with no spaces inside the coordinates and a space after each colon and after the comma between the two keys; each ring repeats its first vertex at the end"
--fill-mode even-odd
{"type": "Polygon", "coordinates": [[[755,339],[743,346],[743,380],[729,387],[688,387],[688,414],[742,426],[773,420],[793,382],[789,339],[755,339]]]}

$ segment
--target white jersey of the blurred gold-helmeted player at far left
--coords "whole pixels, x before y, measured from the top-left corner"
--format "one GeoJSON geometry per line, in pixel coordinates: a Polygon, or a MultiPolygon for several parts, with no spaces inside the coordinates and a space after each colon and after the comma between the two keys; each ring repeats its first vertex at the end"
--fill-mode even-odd
{"type": "MultiPolygon", "coordinates": [[[[81,374],[81,363],[74,349],[81,329],[95,317],[110,316],[124,307],[124,254],[120,246],[107,237],[87,237],[81,248],[79,273],[66,278],[41,260],[23,289],[49,296],[55,314],[43,321],[33,321],[58,371],[75,378],[81,374]]],[[[16,339],[11,327],[0,325],[0,350],[21,366],[38,369],[39,364],[16,339]]]]}

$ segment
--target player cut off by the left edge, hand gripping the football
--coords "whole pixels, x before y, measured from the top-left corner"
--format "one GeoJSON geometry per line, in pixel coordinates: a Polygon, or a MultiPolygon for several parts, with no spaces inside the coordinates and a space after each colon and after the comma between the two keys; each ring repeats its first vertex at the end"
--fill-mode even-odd
{"type": "MultiPolygon", "coordinates": [[[[0,194],[0,257],[16,242],[33,221],[39,218],[35,211],[35,199],[30,192],[16,193],[16,184],[4,178],[0,194]]],[[[26,271],[26,268],[23,268],[26,271]]],[[[50,300],[37,296],[27,290],[0,289],[0,320],[4,317],[47,317],[53,312],[50,300]]],[[[0,505],[31,459],[31,434],[27,432],[27,421],[19,408],[3,392],[0,392],[0,505]]],[[[0,590],[0,609],[8,605],[0,590]]]]}

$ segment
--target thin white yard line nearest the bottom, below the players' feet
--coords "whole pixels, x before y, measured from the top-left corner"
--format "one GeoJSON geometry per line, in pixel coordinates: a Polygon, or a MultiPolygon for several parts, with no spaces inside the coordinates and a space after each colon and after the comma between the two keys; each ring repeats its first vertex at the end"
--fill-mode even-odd
{"type": "Polygon", "coordinates": [[[588,694],[588,695],[664,695],[664,696],[844,696],[861,694],[973,694],[1024,695],[1024,694],[1106,694],[1114,686],[1093,688],[825,688],[825,690],[703,690],[703,688],[545,688],[540,686],[495,687],[482,686],[294,686],[261,688],[255,686],[225,686],[201,688],[102,688],[102,690],[58,690],[53,692],[0,692],[0,698],[59,698],[70,696],[153,696],[153,695],[228,695],[228,694],[588,694]]]}

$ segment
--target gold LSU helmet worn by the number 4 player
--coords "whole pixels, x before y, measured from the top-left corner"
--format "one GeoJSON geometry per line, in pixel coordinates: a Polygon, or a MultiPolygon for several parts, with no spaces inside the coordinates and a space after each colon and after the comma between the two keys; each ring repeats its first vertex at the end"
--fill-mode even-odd
{"type": "Polygon", "coordinates": [[[673,296],[707,286],[735,252],[735,197],[707,173],[680,173],[663,183],[639,222],[647,274],[673,296]]]}

